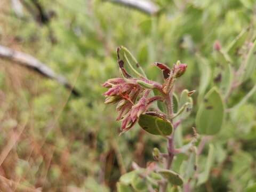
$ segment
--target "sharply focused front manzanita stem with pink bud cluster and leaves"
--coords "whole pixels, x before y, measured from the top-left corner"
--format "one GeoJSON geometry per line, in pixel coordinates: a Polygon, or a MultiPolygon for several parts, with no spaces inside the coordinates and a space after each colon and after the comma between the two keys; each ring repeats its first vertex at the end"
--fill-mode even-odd
{"type": "Polygon", "coordinates": [[[127,191],[131,185],[137,191],[166,191],[170,183],[170,187],[178,189],[196,170],[195,129],[194,139],[187,145],[181,148],[174,146],[175,130],[190,114],[193,106],[191,95],[195,91],[183,90],[179,100],[174,94],[175,82],[185,73],[187,65],[177,61],[169,68],[155,62],[154,65],[163,74],[163,83],[158,83],[147,78],[137,60],[125,47],[117,48],[117,58],[121,77],[108,79],[103,84],[108,91],[103,95],[106,97],[105,103],[117,103],[117,121],[122,121],[121,133],[130,130],[138,122],[146,132],[167,140],[167,153],[161,153],[157,148],[153,150],[157,163],[149,163],[147,169],[133,163],[134,171],[122,175],[117,188],[119,191],[127,191]],[[186,177],[171,170],[174,157],[178,154],[189,156],[186,177]]]}

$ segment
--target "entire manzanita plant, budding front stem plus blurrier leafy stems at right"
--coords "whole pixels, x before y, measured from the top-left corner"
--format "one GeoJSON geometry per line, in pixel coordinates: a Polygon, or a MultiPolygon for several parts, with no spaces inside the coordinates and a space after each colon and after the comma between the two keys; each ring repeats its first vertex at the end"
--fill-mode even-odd
{"type": "MultiPolygon", "coordinates": [[[[133,171],[121,176],[117,190],[123,191],[193,191],[195,186],[205,183],[215,161],[218,145],[209,143],[208,155],[199,159],[202,166],[197,166],[198,157],[202,153],[206,141],[214,141],[222,127],[225,112],[229,113],[242,105],[254,92],[229,109],[227,106],[231,92],[248,78],[255,68],[256,43],[249,46],[246,60],[235,70],[234,50],[245,43],[242,32],[234,42],[223,49],[219,42],[214,44],[213,60],[220,63],[221,70],[215,69],[218,75],[214,78],[214,86],[205,94],[210,84],[211,68],[201,55],[196,55],[200,66],[201,82],[198,89],[198,110],[195,126],[191,127],[193,137],[186,142],[181,133],[181,123],[190,115],[193,108],[191,95],[194,90],[183,90],[180,97],[175,93],[175,83],[185,73],[187,65],[177,61],[172,67],[159,62],[154,65],[162,71],[163,83],[151,81],[140,67],[133,55],[123,46],[117,48],[117,62],[121,77],[108,79],[103,86],[108,91],[103,93],[105,103],[117,103],[117,121],[121,121],[121,133],[129,131],[136,123],[149,134],[158,135],[167,141],[167,153],[158,148],[153,149],[153,159],[146,168],[133,163],[133,171]],[[250,69],[250,70],[248,70],[250,69]],[[220,81],[221,80],[221,81],[220,81]],[[199,135],[200,134],[200,137],[199,135]],[[212,136],[211,136],[212,135],[212,136]],[[174,142],[175,141],[175,142],[174,142]]],[[[218,160],[218,159],[217,159],[218,160]]]]}

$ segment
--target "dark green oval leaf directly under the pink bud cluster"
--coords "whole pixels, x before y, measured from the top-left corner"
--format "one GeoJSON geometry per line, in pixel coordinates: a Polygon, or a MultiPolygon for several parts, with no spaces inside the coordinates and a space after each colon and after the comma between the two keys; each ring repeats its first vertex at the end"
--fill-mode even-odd
{"type": "Polygon", "coordinates": [[[139,125],[143,130],[154,135],[170,135],[173,129],[169,121],[147,114],[140,115],[139,125]]]}

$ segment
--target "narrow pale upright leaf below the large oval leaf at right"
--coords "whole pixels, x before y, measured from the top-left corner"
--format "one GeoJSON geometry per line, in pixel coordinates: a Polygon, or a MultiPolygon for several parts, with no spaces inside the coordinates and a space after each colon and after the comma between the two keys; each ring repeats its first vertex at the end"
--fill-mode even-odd
{"type": "Polygon", "coordinates": [[[207,161],[205,164],[205,170],[204,170],[204,172],[202,172],[198,175],[197,185],[201,185],[209,179],[209,175],[210,175],[210,171],[211,171],[213,162],[214,162],[214,146],[212,144],[210,144],[207,161]]]}

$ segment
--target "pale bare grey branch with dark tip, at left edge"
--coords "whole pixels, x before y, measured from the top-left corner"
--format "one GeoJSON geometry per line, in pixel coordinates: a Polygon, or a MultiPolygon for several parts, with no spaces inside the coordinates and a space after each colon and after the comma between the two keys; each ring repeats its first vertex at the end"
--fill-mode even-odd
{"type": "Polygon", "coordinates": [[[44,77],[54,79],[59,84],[65,86],[68,90],[70,90],[71,93],[73,93],[75,96],[78,97],[80,95],[77,90],[73,89],[73,86],[68,83],[65,77],[55,74],[50,67],[47,67],[44,63],[29,54],[15,51],[8,47],[0,45],[0,58],[14,61],[22,66],[36,71],[44,77]]]}

